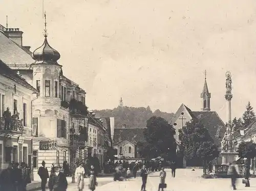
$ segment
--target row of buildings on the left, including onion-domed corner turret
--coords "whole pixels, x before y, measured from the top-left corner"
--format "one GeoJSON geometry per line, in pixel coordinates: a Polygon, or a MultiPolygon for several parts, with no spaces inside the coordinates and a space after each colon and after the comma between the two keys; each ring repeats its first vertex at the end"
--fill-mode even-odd
{"type": "Polygon", "coordinates": [[[106,160],[111,120],[88,112],[86,91],[63,74],[59,58],[47,34],[31,52],[22,31],[0,25],[1,169],[11,161],[37,172],[43,160],[47,167],[77,157],[97,157],[101,166],[106,160]]]}

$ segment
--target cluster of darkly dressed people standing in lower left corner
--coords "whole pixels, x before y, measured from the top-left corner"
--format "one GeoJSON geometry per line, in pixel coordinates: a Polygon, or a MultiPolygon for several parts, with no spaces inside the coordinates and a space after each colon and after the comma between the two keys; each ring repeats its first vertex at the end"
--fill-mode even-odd
{"type": "Polygon", "coordinates": [[[11,162],[0,175],[0,190],[26,191],[27,184],[31,183],[30,169],[25,162],[11,162]]]}

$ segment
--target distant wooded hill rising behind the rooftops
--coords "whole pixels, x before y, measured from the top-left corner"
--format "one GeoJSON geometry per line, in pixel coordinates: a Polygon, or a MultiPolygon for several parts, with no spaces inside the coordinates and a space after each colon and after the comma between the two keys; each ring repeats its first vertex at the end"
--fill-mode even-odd
{"type": "Polygon", "coordinates": [[[146,121],[153,116],[161,117],[170,122],[174,113],[162,112],[159,109],[152,111],[149,106],[145,107],[117,107],[114,109],[94,110],[96,117],[114,117],[115,128],[126,125],[126,128],[145,127],[146,121]]]}

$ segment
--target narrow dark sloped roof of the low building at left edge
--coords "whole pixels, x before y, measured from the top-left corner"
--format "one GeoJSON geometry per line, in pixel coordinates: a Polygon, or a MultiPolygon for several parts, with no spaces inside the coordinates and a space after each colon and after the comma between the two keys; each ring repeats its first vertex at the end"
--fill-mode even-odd
{"type": "Polygon", "coordinates": [[[15,71],[9,68],[2,60],[0,60],[0,74],[4,77],[16,82],[17,84],[23,85],[24,87],[37,92],[37,90],[31,86],[25,79],[20,77],[15,71]]]}

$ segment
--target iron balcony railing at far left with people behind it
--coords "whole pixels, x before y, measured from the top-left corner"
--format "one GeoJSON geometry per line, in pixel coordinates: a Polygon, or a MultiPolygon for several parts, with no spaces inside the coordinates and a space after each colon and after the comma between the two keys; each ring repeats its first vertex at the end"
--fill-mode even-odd
{"type": "Polygon", "coordinates": [[[0,130],[24,133],[23,120],[0,118],[0,130]]]}

